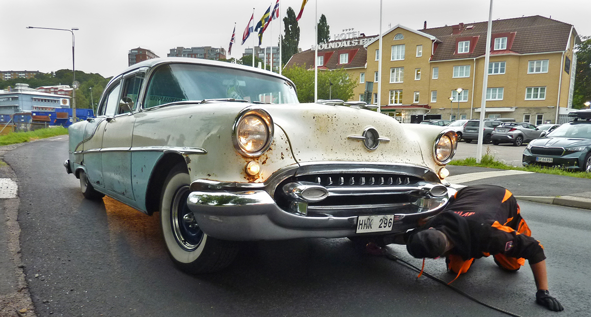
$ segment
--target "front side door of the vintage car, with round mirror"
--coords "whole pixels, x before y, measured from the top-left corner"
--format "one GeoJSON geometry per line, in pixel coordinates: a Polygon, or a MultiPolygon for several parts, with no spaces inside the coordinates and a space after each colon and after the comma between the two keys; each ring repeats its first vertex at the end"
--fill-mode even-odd
{"type": "MultiPolygon", "coordinates": [[[[105,189],[135,200],[131,181],[131,144],[139,87],[143,72],[126,75],[115,107],[107,107],[103,132],[102,164],[105,189]]],[[[111,104],[109,104],[111,105],[111,104]]]]}

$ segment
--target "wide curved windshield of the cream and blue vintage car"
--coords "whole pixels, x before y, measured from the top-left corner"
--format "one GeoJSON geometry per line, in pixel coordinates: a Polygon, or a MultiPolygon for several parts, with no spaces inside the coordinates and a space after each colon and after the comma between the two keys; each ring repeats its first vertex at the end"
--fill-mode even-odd
{"type": "Polygon", "coordinates": [[[298,103],[294,87],[278,77],[235,68],[168,64],[152,74],[144,108],[177,101],[227,98],[251,103],[298,103]]]}

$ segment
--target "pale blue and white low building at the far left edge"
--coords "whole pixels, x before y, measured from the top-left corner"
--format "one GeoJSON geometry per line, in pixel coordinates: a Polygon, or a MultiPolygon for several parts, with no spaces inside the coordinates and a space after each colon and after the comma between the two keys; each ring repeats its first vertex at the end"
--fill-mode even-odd
{"type": "Polygon", "coordinates": [[[41,93],[28,84],[16,84],[14,88],[0,90],[0,114],[56,111],[70,108],[70,99],[67,95],[41,93]]]}

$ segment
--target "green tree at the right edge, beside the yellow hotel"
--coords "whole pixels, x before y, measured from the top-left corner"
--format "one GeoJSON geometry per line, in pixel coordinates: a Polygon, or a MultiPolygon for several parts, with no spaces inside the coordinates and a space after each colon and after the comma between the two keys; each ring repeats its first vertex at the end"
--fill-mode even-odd
{"type": "Polygon", "coordinates": [[[576,45],[577,70],[574,75],[573,108],[580,109],[586,101],[591,101],[591,36],[583,37],[576,45]]]}

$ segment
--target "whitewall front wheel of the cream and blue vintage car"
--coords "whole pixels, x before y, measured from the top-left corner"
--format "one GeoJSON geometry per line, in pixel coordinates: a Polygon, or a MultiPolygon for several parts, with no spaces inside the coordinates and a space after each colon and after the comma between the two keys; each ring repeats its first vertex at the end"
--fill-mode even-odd
{"type": "Polygon", "coordinates": [[[179,163],[164,181],[160,225],[174,264],[187,273],[209,273],[226,268],[238,253],[238,244],[207,236],[187,206],[190,177],[179,163]]]}

